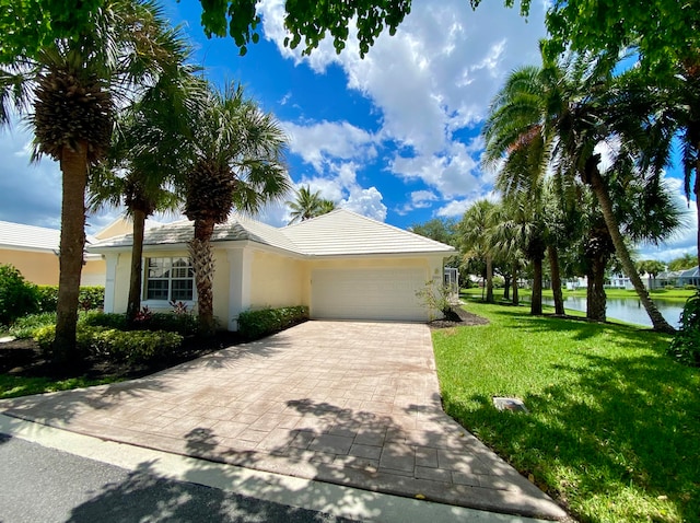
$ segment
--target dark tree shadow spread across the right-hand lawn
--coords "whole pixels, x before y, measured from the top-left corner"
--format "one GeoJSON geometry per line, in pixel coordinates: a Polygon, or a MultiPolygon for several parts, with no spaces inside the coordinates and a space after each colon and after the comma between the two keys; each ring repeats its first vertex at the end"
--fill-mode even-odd
{"type": "MultiPolygon", "coordinates": [[[[632,329],[629,342],[640,347],[632,329]]],[[[529,415],[498,411],[481,395],[470,398],[479,404],[476,409],[446,396],[445,409],[563,501],[571,490],[588,500],[617,493],[622,503],[625,490],[634,489],[650,505],[670,505],[680,520],[698,521],[698,371],[661,355],[581,357],[584,368],[555,365],[565,373],[565,385],[551,384],[523,398],[529,415]]],[[[638,515],[665,521],[661,513],[638,515]]]]}

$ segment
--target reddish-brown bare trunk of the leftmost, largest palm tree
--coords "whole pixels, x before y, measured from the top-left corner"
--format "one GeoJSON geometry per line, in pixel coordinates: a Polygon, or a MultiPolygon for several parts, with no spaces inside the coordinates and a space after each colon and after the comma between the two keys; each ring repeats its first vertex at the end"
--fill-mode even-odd
{"type": "Polygon", "coordinates": [[[61,367],[78,363],[75,346],[80,274],[85,247],[85,185],[88,182],[86,146],[78,151],[63,147],[60,167],[63,175],[61,239],[56,309],[54,360],[61,367]]]}

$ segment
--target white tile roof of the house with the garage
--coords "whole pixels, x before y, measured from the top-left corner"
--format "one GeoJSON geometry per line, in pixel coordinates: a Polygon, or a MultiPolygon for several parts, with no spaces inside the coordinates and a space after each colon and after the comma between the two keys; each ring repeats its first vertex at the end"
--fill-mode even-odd
{"type": "MultiPolygon", "coordinates": [[[[180,220],[149,229],[143,244],[176,245],[192,239],[192,222],[180,220]]],[[[93,252],[130,247],[131,234],[103,240],[91,246],[93,252]]],[[[214,228],[212,242],[250,241],[302,256],[348,256],[371,254],[453,254],[454,248],[440,242],[382,223],[354,212],[336,209],[312,220],[281,229],[233,216],[214,228]]]]}

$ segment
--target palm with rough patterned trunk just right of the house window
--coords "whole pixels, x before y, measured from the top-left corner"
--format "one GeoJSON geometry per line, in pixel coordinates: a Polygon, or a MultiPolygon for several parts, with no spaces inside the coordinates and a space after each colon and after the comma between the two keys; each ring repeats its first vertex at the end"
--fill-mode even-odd
{"type": "Polygon", "coordinates": [[[283,198],[290,182],[282,153],[285,137],[271,114],[262,113],[243,89],[212,90],[192,119],[191,163],[184,181],[184,212],[195,222],[190,255],[201,333],[214,330],[210,239],[233,209],[253,214],[283,198]]]}

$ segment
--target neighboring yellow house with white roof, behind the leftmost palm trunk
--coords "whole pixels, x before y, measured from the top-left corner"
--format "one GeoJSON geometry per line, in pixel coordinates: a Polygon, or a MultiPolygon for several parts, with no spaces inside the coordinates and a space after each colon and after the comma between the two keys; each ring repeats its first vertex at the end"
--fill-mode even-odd
{"type": "MultiPolygon", "coordinates": [[[[27,281],[57,286],[60,231],[0,221],[0,264],[12,264],[27,281]]],[[[88,244],[94,243],[88,236],[88,244]]],[[[104,286],[106,265],[98,254],[85,254],[80,279],[82,286],[104,286]]]]}

